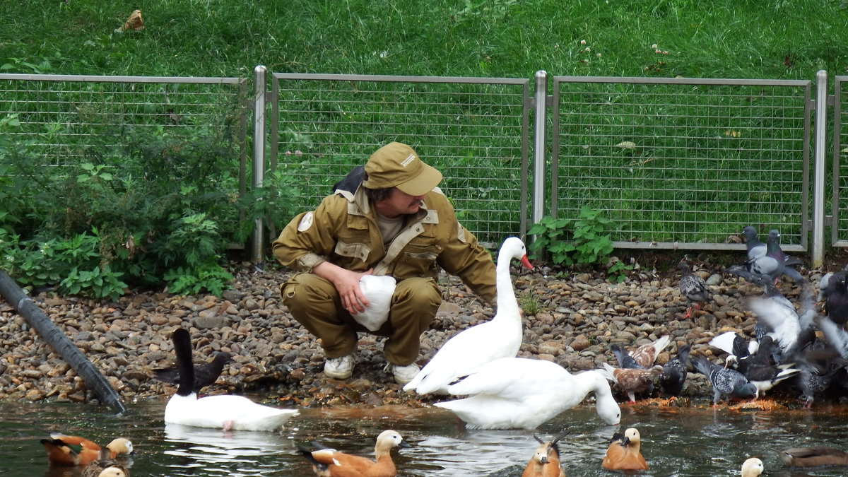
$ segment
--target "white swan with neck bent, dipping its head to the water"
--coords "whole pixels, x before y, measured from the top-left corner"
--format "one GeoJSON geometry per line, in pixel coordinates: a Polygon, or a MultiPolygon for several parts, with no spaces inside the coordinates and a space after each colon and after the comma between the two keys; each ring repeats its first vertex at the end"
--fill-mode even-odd
{"type": "Polygon", "coordinates": [[[455,396],[434,405],[454,412],[474,429],[535,429],[594,393],[606,424],[618,424],[621,410],[607,380],[595,371],[572,374],[555,362],[505,357],[488,362],[449,386],[455,396]]]}

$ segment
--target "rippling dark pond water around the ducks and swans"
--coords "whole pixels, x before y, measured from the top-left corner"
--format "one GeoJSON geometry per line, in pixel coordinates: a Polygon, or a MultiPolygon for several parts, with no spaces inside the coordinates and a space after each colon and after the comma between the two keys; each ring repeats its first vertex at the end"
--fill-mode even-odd
{"type": "MultiPolygon", "coordinates": [[[[255,396],[254,396],[255,398],[255,396]]],[[[0,404],[0,475],[78,477],[70,469],[48,469],[39,439],[49,432],[83,435],[105,444],[117,436],[133,441],[131,474],[144,476],[309,477],[310,466],[295,452],[298,443],[321,441],[347,452],[371,456],[374,439],[395,429],[412,446],[394,452],[399,475],[520,475],[537,442],[526,430],[465,429],[452,413],[436,407],[350,407],[301,409],[278,432],[223,432],[165,425],[165,401],[127,404],[114,415],[108,407],[81,404],[0,404]]],[[[747,457],[760,457],[766,475],[837,476],[848,468],[791,471],[776,450],[790,446],[848,449],[848,413],[820,407],[812,411],[734,412],[706,408],[622,406],[622,426],[603,424],[593,407],[563,412],[535,434],[550,439],[570,429],[560,445],[566,474],[621,475],[601,469],[613,432],[639,429],[645,476],[739,475],[747,457]]]]}

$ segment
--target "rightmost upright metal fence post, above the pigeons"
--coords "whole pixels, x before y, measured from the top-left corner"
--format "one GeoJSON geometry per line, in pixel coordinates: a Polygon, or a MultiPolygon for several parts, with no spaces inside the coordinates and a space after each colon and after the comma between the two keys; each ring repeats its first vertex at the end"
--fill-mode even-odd
{"type": "Polygon", "coordinates": [[[824,262],[824,167],[825,129],[828,113],[828,72],[816,73],[816,125],[815,159],[812,180],[812,267],[821,267],[824,262]]]}

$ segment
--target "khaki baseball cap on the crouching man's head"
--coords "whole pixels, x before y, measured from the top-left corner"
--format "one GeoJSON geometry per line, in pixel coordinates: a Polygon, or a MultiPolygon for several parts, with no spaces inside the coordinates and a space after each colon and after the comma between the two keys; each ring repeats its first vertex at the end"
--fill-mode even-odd
{"type": "Polygon", "coordinates": [[[424,164],[416,151],[404,143],[388,143],[365,163],[366,188],[399,188],[410,195],[424,195],[442,182],[442,173],[424,164]]]}

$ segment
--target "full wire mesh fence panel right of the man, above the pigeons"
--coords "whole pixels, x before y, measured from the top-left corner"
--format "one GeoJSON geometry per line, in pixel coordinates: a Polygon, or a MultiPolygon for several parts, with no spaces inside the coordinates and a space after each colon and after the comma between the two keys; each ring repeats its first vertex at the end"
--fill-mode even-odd
{"type": "Polygon", "coordinates": [[[552,214],[603,210],[622,248],[804,250],[810,81],[556,76],[552,214]]]}

